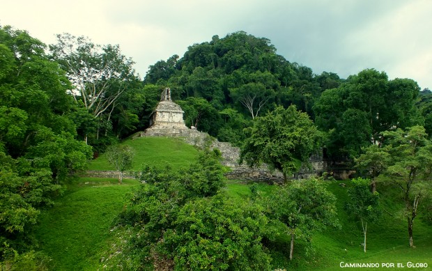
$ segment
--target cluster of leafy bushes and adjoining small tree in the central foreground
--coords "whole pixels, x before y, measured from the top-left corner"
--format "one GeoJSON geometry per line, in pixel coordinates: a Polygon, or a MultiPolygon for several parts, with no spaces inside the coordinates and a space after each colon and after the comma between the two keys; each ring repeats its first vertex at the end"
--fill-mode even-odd
{"type": "Polygon", "coordinates": [[[207,150],[180,172],[143,168],[139,176],[145,183],[118,219],[132,235],[116,265],[137,270],[270,270],[266,242],[285,231],[310,240],[325,225],[338,225],[334,196],[320,180],[295,182],[265,199],[233,199],[221,190],[218,155],[207,150]],[[286,230],[277,229],[276,222],[286,230]]]}

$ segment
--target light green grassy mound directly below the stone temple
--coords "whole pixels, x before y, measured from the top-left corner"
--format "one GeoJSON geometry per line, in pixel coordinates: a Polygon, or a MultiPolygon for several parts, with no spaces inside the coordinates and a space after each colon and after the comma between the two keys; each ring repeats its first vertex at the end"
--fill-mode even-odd
{"type": "MultiPolygon", "coordinates": [[[[198,150],[183,139],[165,137],[139,137],[128,139],[122,144],[131,146],[134,150],[133,170],[139,170],[141,164],[151,164],[155,167],[165,167],[169,164],[174,170],[187,167],[194,161],[198,150]]],[[[114,170],[104,154],[92,160],[88,169],[90,170],[114,170]]]]}

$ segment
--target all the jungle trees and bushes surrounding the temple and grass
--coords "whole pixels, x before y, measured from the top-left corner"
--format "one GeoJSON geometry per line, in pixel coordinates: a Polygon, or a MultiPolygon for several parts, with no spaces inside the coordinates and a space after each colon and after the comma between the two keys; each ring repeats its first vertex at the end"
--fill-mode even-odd
{"type": "Polygon", "coordinates": [[[247,200],[231,199],[219,153],[209,149],[183,169],[142,167],[146,185],[112,222],[134,235],[124,249],[130,258],[118,260],[125,270],[275,270],[275,258],[289,264],[293,257],[291,268],[301,268],[294,242],[304,249],[313,233],[341,229],[349,219],[337,210],[350,210],[366,244],[369,225],[385,212],[378,202],[390,206],[390,198],[398,199],[392,212],[403,217],[407,247],[415,247],[414,222],[431,229],[429,89],[373,68],[346,79],[317,75],[243,31],[174,53],[141,77],[118,45],[67,33],[45,45],[0,26],[2,270],[50,270],[35,234],[41,214],[89,161],[148,127],[167,87],[188,127],[240,147],[249,165],[279,169],[287,184],[249,184],[247,200]],[[326,188],[332,176],[289,178],[318,151],[356,171],[342,207],[326,188]],[[284,256],[277,254],[282,233],[284,256]]]}

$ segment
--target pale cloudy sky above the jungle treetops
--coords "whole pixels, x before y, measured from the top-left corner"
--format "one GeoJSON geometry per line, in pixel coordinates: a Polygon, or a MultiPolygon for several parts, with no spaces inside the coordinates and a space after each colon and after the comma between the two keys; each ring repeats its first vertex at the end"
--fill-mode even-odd
{"type": "Polygon", "coordinates": [[[120,45],[144,76],[149,65],[180,57],[194,43],[246,31],[268,38],[288,61],[316,74],[365,68],[432,89],[430,0],[14,0],[0,25],[50,44],[55,34],[120,45]]]}

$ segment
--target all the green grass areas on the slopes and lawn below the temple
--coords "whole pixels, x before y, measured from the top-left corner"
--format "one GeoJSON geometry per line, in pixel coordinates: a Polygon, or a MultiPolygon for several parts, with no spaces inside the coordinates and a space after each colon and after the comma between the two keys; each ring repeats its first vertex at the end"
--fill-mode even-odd
{"type": "MultiPolygon", "coordinates": [[[[187,166],[196,157],[197,150],[180,139],[140,138],[125,141],[136,151],[134,168],[142,162],[163,167],[172,164],[174,168],[187,166]]],[[[91,162],[93,170],[109,170],[105,157],[101,155],[91,162]]],[[[342,229],[328,229],[316,233],[307,246],[297,242],[293,261],[288,261],[289,238],[283,232],[270,246],[274,268],[287,270],[340,270],[340,263],[393,263],[405,266],[407,263],[428,263],[432,267],[432,226],[415,221],[415,249],[408,247],[406,219],[399,217],[400,204],[394,201],[391,187],[378,187],[383,194],[385,212],[377,224],[368,226],[368,251],[364,253],[360,244],[363,235],[360,227],[348,220],[344,211],[347,187],[339,181],[329,181],[328,188],[338,199],[339,221],[342,229]]],[[[113,221],[123,209],[125,195],[139,183],[125,180],[118,185],[111,178],[77,178],[68,191],[56,200],[54,208],[43,212],[36,229],[40,249],[53,258],[54,270],[103,270],[105,259],[118,251],[121,233],[113,229],[113,221]],[[120,235],[120,236],[119,236],[120,235]]],[[[252,196],[250,185],[228,180],[226,190],[233,200],[241,201],[252,196]]],[[[277,185],[259,184],[258,189],[269,193],[277,185]]],[[[355,268],[357,269],[357,268],[355,268]]],[[[360,268],[359,268],[360,269],[360,268]]],[[[367,268],[361,268],[368,270],[367,268]]],[[[409,268],[409,270],[427,270],[409,268]]]]}

